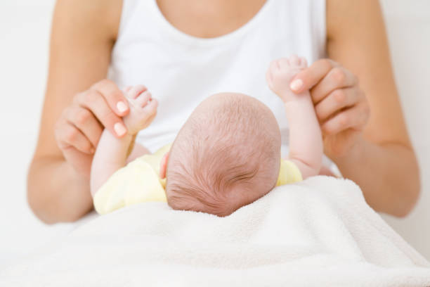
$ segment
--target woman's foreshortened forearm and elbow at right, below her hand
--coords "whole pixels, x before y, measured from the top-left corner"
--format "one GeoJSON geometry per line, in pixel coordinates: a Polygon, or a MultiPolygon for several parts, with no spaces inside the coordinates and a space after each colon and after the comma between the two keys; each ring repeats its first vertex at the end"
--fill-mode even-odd
{"type": "Polygon", "coordinates": [[[360,138],[351,153],[332,158],[344,177],[360,186],[378,212],[408,215],[419,196],[419,167],[412,149],[400,144],[373,144],[360,138]]]}

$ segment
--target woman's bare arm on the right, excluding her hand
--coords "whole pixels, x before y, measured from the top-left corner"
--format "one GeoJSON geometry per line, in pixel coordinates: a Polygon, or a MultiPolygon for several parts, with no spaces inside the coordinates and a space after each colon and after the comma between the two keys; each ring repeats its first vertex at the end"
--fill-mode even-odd
{"type": "MultiPolygon", "coordinates": [[[[405,216],[419,196],[419,168],[391,71],[379,2],[327,1],[327,51],[360,79],[370,119],[355,148],[332,156],[375,210],[405,216]]],[[[410,95],[417,96],[417,95],[410,95]]]]}

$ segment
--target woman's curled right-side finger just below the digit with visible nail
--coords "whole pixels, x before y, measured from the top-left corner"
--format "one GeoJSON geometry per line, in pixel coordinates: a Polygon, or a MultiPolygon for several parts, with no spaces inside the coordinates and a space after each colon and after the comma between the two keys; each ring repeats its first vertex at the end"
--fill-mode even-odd
{"type": "Polygon", "coordinates": [[[319,103],[336,89],[353,87],[358,79],[349,70],[337,66],[332,68],[325,77],[311,89],[313,103],[319,103]]]}

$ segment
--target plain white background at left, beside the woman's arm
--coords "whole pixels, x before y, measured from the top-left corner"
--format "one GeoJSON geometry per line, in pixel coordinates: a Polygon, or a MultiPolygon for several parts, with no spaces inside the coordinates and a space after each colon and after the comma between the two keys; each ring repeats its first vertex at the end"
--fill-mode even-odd
{"type": "Polygon", "coordinates": [[[44,98],[53,0],[0,1],[0,268],[70,226],[48,227],[27,206],[26,174],[44,98]]]}

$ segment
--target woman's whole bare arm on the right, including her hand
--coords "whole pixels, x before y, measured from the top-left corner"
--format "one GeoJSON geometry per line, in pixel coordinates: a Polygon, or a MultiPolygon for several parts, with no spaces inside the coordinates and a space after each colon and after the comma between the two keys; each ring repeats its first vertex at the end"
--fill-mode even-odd
{"type": "Polygon", "coordinates": [[[327,0],[327,52],[332,60],[297,76],[297,93],[312,87],[325,153],[344,177],[356,181],[374,210],[403,217],[419,196],[419,168],[378,1],[327,0]]]}

